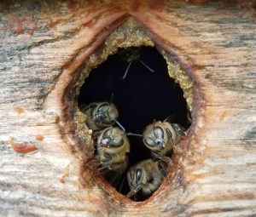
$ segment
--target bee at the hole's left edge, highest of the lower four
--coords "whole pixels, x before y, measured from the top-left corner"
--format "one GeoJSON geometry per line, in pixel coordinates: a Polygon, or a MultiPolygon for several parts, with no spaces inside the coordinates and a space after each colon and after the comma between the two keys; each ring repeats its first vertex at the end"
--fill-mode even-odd
{"type": "MultiPolygon", "coordinates": [[[[109,102],[93,102],[81,109],[86,115],[85,123],[92,130],[100,130],[118,123],[119,111],[113,103],[109,102]]],[[[123,128],[119,124],[120,128],[123,128]]]]}

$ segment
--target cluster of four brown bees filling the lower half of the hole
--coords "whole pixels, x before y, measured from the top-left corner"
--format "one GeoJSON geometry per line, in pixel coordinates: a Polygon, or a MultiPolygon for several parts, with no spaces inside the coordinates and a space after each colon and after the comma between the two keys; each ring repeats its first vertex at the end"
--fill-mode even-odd
{"type": "Polygon", "coordinates": [[[126,172],[130,191],[127,197],[136,199],[138,194],[151,195],[166,178],[172,165],[170,154],[185,135],[185,128],[177,123],[157,121],[148,125],[143,134],[126,133],[117,121],[119,111],[113,103],[96,102],[81,109],[86,115],[85,123],[93,129],[98,168],[113,186],[121,186],[120,179],[126,172]],[[117,124],[118,126],[114,126],[117,124]],[[130,152],[128,136],[141,136],[143,144],[151,151],[151,158],[130,168],[127,154],[130,152]],[[127,170],[128,168],[128,170],[127,170]]]}

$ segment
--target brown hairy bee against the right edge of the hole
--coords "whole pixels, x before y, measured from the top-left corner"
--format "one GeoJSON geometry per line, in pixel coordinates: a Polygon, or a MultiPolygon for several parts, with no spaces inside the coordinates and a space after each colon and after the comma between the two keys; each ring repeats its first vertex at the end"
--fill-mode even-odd
{"type": "Polygon", "coordinates": [[[186,129],[177,123],[154,122],[143,132],[143,143],[153,157],[161,158],[175,151],[177,143],[185,135],[186,129]]]}

